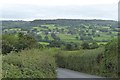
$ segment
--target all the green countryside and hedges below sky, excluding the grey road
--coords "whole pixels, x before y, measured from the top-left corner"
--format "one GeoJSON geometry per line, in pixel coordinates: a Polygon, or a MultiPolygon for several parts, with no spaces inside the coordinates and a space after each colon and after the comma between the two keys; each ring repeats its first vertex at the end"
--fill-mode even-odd
{"type": "Polygon", "coordinates": [[[119,31],[111,20],[3,21],[2,76],[56,78],[62,67],[116,78],[119,31]]]}

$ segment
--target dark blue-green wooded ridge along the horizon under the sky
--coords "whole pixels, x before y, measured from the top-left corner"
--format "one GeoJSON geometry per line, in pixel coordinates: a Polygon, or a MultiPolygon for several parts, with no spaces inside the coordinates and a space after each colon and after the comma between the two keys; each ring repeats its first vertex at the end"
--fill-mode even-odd
{"type": "Polygon", "coordinates": [[[108,26],[117,27],[117,21],[112,20],[82,20],[82,19],[55,19],[55,20],[34,20],[34,21],[2,21],[3,28],[10,27],[31,27],[38,26],[43,24],[56,24],[60,26],[70,26],[75,27],[81,24],[86,25],[100,25],[100,26],[108,26]]]}

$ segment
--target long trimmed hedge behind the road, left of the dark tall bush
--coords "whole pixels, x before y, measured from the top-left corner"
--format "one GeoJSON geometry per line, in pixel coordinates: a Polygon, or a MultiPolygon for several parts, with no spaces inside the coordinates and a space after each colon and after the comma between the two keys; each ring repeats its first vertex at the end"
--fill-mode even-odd
{"type": "Polygon", "coordinates": [[[62,68],[100,75],[100,63],[98,62],[100,59],[98,56],[102,55],[103,52],[104,48],[61,51],[56,54],[56,62],[62,68]]]}

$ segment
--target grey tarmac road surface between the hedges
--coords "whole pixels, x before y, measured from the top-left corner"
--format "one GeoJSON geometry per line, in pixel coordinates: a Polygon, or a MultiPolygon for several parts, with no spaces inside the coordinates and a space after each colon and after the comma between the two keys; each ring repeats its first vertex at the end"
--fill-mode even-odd
{"type": "Polygon", "coordinates": [[[57,73],[58,78],[103,78],[63,68],[58,68],[57,73]]]}

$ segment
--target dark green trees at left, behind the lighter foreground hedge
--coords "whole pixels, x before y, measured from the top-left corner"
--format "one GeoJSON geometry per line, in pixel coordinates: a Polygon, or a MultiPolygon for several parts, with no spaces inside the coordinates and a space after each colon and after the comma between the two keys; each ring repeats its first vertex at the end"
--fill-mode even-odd
{"type": "Polygon", "coordinates": [[[3,35],[2,40],[2,54],[37,47],[37,42],[32,36],[24,35],[22,33],[19,33],[18,35],[5,34],[3,35]]]}

